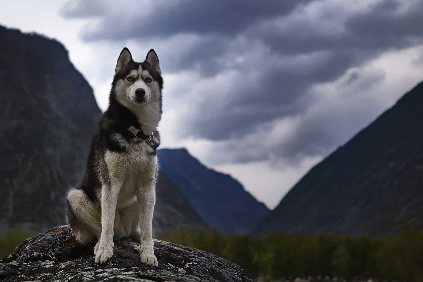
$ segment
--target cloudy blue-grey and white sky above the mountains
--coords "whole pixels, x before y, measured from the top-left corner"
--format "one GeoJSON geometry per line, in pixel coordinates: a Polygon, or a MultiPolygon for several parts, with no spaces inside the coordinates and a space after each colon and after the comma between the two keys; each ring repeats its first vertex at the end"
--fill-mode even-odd
{"type": "Polygon", "coordinates": [[[162,146],[269,208],[423,80],[421,0],[38,2],[7,1],[0,24],[61,41],[103,110],[121,49],[154,48],[162,146]]]}

